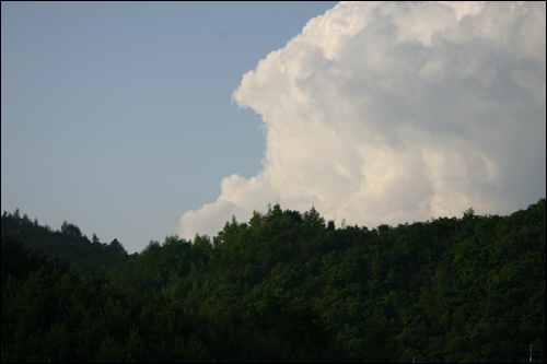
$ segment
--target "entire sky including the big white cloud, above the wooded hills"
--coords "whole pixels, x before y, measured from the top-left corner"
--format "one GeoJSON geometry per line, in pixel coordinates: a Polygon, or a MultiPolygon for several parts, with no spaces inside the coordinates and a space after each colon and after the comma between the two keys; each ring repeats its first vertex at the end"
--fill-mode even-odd
{"type": "Polygon", "coordinates": [[[2,2],[1,208],[129,253],[545,198],[545,2],[2,2]]]}

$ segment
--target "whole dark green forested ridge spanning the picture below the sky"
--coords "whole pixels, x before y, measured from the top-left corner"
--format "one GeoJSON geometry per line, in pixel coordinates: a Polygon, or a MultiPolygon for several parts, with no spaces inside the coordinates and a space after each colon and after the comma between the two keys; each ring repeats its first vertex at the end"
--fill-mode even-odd
{"type": "Polygon", "coordinates": [[[372,230],[274,206],[214,237],[115,244],[92,274],[27,246],[14,215],[5,362],[517,362],[529,344],[545,361],[545,199],[372,230]]]}

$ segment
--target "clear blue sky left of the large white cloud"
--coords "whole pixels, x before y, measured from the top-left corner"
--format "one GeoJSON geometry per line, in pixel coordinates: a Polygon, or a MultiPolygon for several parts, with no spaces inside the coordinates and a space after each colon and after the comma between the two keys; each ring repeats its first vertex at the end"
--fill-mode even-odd
{"type": "Polygon", "coordinates": [[[2,211],[118,238],[175,234],[260,168],[242,75],[336,2],[2,2],[2,211]]]}

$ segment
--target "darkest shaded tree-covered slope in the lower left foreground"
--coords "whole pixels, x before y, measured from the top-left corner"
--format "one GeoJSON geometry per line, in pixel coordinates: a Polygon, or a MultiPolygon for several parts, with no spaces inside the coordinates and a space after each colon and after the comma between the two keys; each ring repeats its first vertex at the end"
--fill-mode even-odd
{"type": "MultiPolygon", "coordinates": [[[[37,259],[14,235],[2,239],[2,260],[8,254],[7,260],[23,263],[37,259]]],[[[212,360],[181,304],[129,291],[104,273],[81,279],[47,259],[39,262],[30,274],[15,267],[19,279],[10,268],[4,280],[2,271],[2,361],[212,360]]]]}

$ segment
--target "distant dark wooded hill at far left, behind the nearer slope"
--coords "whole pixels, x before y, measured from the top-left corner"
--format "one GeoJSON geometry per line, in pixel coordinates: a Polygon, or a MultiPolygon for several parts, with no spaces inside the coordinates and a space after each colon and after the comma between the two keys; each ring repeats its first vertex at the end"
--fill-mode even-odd
{"type": "Polygon", "coordinates": [[[7,211],[1,216],[1,234],[20,232],[25,244],[30,247],[43,247],[50,257],[58,257],[69,261],[74,271],[81,277],[94,272],[112,270],[127,251],[117,239],[109,244],[101,243],[93,234],[90,240],[82,234],[75,224],[66,221],[60,230],[54,231],[50,226],[42,226],[37,219],[31,221],[27,214],[21,215],[19,209],[13,213],[7,211]]]}

